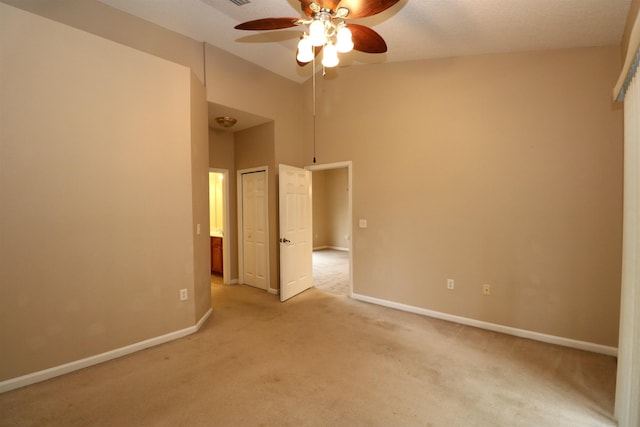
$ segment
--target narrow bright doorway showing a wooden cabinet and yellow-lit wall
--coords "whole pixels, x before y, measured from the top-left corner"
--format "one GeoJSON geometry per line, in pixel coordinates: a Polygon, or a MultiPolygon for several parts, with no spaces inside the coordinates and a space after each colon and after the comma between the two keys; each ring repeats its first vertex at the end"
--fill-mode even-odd
{"type": "Polygon", "coordinates": [[[229,171],[209,169],[209,239],[211,274],[217,282],[229,283],[229,171]]]}

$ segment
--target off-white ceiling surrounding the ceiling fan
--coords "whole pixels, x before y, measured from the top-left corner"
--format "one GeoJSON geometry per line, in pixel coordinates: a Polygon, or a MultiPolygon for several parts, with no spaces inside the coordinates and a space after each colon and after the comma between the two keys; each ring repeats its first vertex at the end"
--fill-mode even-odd
{"type": "MultiPolygon", "coordinates": [[[[294,81],[311,67],[295,61],[299,27],[235,30],[259,18],[301,17],[299,0],[100,0],[205,41],[294,81]]],[[[400,0],[387,11],[354,22],[386,40],[386,54],[353,52],[342,66],[513,51],[618,44],[631,0],[400,0]]],[[[343,56],[344,58],[344,56],[343,56]]]]}

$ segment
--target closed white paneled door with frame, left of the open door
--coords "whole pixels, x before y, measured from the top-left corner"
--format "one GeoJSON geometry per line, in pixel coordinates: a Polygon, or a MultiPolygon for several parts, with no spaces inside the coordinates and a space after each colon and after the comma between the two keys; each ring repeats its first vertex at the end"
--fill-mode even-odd
{"type": "Polygon", "coordinates": [[[269,289],[268,168],[238,171],[240,283],[269,289]]]}

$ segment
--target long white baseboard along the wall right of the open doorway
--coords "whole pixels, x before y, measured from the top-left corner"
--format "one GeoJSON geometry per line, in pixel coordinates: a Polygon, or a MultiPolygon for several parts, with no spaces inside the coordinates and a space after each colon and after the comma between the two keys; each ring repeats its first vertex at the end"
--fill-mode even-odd
{"type": "Polygon", "coordinates": [[[439,311],[428,310],[426,308],[415,307],[397,303],[394,301],[373,298],[361,294],[352,294],[351,298],[368,302],[371,304],[382,305],[384,307],[394,308],[396,310],[407,311],[409,313],[420,314],[422,316],[433,317],[435,319],[447,320],[449,322],[460,323],[462,325],[473,326],[476,328],[487,329],[489,331],[501,332],[503,334],[513,335],[520,338],[528,338],[536,341],[542,341],[549,344],[557,344],[565,347],[576,348],[579,350],[591,351],[594,353],[606,354],[608,356],[618,356],[616,347],[609,347],[601,344],[594,344],[586,341],[578,341],[570,338],[558,337],[555,335],[541,334],[539,332],[527,331],[525,329],[512,328],[510,326],[498,325],[496,323],[483,322],[480,320],[470,319],[468,317],[455,316],[453,314],[442,313],[439,311]]]}

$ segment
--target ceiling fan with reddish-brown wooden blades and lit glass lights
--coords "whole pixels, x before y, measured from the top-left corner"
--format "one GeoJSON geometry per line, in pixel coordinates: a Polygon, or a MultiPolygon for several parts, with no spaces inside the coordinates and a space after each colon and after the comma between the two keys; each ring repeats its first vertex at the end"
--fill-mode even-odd
{"type": "Polygon", "coordinates": [[[237,30],[280,30],[308,25],[296,54],[298,65],[306,65],[323,51],[322,65],[338,65],[338,53],[357,50],[384,53],[387,44],[380,34],[347,19],[365,18],[383,12],[400,0],[300,0],[306,18],[263,18],[236,25],[237,30]]]}

